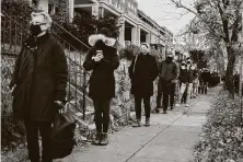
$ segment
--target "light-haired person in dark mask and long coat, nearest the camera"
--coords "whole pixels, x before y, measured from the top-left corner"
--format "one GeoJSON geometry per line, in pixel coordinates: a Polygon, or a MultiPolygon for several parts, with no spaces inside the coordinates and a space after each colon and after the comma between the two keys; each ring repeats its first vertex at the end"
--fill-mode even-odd
{"type": "Polygon", "coordinates": [[[10,88],[13,88],[14,117],[24,120],[28,159],[39,162],[38,131],[42,136],[42,162],[51,162],[51,121],[66,102],[68,67],[63,49],[48,30],[46,12],[33,12],[31,36],[16,59],[10,88]]]}

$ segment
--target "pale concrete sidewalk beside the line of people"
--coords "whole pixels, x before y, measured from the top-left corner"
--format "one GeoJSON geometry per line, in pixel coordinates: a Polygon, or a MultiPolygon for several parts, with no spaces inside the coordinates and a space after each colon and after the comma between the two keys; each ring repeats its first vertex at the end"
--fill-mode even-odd
{"type": "Polygon", "coordinates": [[[205,114],[219,89],[193,100],[190,107],[152,114],[150,127],[127,127],[111,135],[106,147],[90,146],[56,162],[189,162],[205,114]]]}

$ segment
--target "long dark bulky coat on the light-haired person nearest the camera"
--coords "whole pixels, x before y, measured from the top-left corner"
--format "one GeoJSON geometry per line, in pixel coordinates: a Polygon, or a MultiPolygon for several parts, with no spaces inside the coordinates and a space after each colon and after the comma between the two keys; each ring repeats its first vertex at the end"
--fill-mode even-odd
{"type": "Polygon", "coordinates": [[[16,59],[10,88],[13,113],[19,118],[51,121],[54,101],[65,102],[68,68],[61,46],[46,34],[28,38],[16,59]]]}

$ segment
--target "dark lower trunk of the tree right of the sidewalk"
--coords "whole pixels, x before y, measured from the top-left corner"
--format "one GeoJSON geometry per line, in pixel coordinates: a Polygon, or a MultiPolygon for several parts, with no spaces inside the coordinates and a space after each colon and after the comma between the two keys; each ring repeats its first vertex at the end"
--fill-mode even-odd
{"type": "Polygon", "coordinates": [[[225,86],[229,91],[229,97],[234,99],[234,81],[233,81],[233,71],[235,65],[235,50],[233,45],[227,46],[228,53],[228,65],[227,65],[227,73],[225,73],[225,86]]]}

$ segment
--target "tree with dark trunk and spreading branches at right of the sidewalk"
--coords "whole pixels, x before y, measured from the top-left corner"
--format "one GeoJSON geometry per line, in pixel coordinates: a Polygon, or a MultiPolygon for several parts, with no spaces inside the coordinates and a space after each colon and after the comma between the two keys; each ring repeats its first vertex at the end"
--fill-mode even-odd
{"type": "Polygon", "coordinates": [[[240,48],[241,15],[240,7],[243,0],[197,0],[188,8],[182,0],[171,0],[177,8],[194,13],[190,31],[206,33],[211,43],[222,42],[225,47],[228,65],[225,85],[230,97],[234,97],[233,70],[240,48]],[[195,30],[196,28],[196,30],[195,30]]]}

